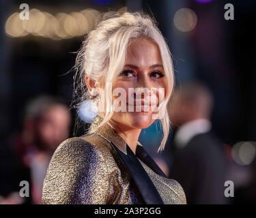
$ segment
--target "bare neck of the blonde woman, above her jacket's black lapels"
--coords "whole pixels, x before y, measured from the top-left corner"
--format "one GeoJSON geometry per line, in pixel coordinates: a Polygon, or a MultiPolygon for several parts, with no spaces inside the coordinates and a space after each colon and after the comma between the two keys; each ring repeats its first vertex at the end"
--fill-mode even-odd
{"type": "Polygon", "coordinates": [[[141,129],[134,129],[119,124],[117,125],[117,123],[113,121],[110,121],[109,125],[111,125],[111,127],[115,129],[115,131],[117,131],[117,134],[119,134],[119,136],[122,137],[122,139],[130,147],[130,150],[132,150],[132,152],[135,154],[139,134],[141,134],[141,129]]]}

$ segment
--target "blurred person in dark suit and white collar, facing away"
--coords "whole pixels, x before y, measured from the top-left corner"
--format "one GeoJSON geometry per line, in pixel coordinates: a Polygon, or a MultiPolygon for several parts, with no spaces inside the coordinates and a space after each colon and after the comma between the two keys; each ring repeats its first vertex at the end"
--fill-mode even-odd
{"type": "Polygon", "coordinates": [[[175,91],[169,106],[175,129],[169,176],[184,187],[188,204],[227,203],[224,183],[229,162],[212,132],[212,94],[203,84],[190,82],[175,91]]]}

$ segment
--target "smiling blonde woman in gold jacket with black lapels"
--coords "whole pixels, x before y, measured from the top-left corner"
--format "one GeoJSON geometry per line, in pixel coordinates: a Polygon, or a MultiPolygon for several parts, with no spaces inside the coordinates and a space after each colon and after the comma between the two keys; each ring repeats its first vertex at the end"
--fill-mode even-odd
{"type": "Polygon", "coordinates": [[[166,178],[138,142],[141,129],[156,119],[164,133],[159,150],[169,134],[173,65],[152,19],[125,12],[102,20],[87,35],[77,63],[82,85],[75,93],[91,99],[98,116],[88,134],[55,151],[43,203],[186,204],[180,184],[166,178]]]}

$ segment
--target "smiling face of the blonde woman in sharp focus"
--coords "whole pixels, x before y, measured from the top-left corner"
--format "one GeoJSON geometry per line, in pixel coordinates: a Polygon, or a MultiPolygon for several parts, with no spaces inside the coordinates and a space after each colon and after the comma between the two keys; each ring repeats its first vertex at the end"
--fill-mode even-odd
{"type": "MultiPolygon", "coordinates": [[[[126,103],[126,110],[114,112],[111,121],[119,127],[122,126],[122,129],[145,129],[149,127],[156,119],[153,115],[158,113],[153,111],[154,108],[165,99],[168,91],[167,78],[162,67],[157,44],[147,39],[136,39],[130,42],[126,51],[124,69],[112,83],[112,90],[117,88],[122,88],[125,91],[121,100],[126,103]],[[134,89],[134,92],[131,91],[131,88],[134,89]],[[147,88],[147,91],[138,95],[136,88],[147,88]],[[152,88],[156,88],[154,92],[152,92],[152,88]],[[162,98],[159,94],[159,88],[164,88],[162,98]],[[153,95],[154,98],[151,98],[153,95]],[[131,99],[137,97],[138,101],[129,102],[129,97],[131,99]],[[152,99],[155,99],[154,102],[152,99]],[[145,106],[146,104],[147,106],[145,106]],[[133,112],[130,111],[130,108],[133,108],[133,112]],[[141,112],[138,112],[137,108],[141,108],[141,112]]],[[[117,98],[120,98],[120,95],[113,95],[113,102],[117,98]]]]}

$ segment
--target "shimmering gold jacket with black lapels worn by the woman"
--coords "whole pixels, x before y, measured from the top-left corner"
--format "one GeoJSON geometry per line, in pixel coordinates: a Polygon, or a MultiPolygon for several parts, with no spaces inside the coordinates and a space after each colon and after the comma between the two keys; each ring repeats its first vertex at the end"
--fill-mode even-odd
{"type": "MultiPolygon", "coordinates": [[[[102,119],[96,116],[91,128],[102,119]]],[[[136,155],[108,124],[69,138],[56,149],[44,178],[43,204],[186,204],[138,142],[136,155]]]]}

